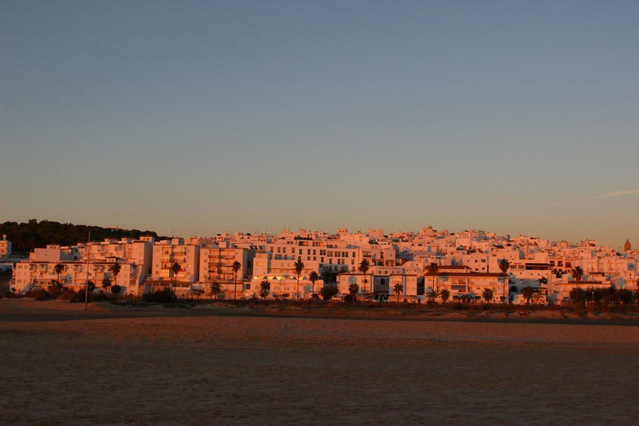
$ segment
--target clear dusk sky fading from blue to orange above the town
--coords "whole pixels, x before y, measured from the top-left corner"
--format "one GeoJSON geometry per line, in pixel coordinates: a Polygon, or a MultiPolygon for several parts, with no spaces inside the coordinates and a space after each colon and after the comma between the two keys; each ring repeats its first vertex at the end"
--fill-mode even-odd
{"type": "Polygon", "coordinates": [[[0,221],[639,245],[639,2],[0,1],[0,221]]]}

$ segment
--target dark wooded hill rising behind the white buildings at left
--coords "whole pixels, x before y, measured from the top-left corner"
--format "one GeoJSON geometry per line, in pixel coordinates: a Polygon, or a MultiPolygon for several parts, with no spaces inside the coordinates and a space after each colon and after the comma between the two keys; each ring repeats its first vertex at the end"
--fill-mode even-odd
{"type": "Polygon", "coordinates": [[[140,231],[137,229],[123,230],[116,228],[102,228],[102,226],[73,225],[72,223],[59,223],[37,219],[29,219],[26,223],[4,222],[0,225],[0,235],[6,234],[12,242],[13,250],[26,251],[35,248],[43,248],[47,244],[60,244],[61,246],[74,246],[78,242],[86,241],[89,231],[91,231],[91,241],[104,241],[105,238],[133,237],[140,235],[153,235],[156,239],[167,239],[168,237],[158,237],[152,231],[140,231]]]}

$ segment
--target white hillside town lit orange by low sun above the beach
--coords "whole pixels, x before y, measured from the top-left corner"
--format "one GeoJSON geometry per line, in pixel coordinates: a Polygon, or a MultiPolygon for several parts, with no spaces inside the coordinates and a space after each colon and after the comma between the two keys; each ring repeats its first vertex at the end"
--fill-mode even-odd
{"type": "MultiPolygon", "coordinates": [[[[279,235],[221,233],[155,241],[105,239],[74,246],[49,244],[28,259],[12,259],[0,240],[0,264],[12,269],[10,287],[23,293],[52,283],[84,288],[88,281],[142,295],[170,287],[178,297],[259,297],[262,283],[274,299],[357,297],[375,302],[570,304],[575,288],[639,292],[639,250],[618,251],[595,240],[576,244],[482,230],[419,232],[382,229],[334,234],[300,229],[279,235]]],[[[593,296],[594,297],[594,296],[593,296]]]]}

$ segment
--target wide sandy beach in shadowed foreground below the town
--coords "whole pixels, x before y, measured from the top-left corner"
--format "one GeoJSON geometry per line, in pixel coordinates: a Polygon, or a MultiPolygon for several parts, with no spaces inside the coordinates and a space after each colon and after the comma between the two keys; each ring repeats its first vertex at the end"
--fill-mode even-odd
{"type": "Polygon", "coordinates": [[[0,300],[0,423],[638,422],[637,326],[81,309],[0,300]]]}

